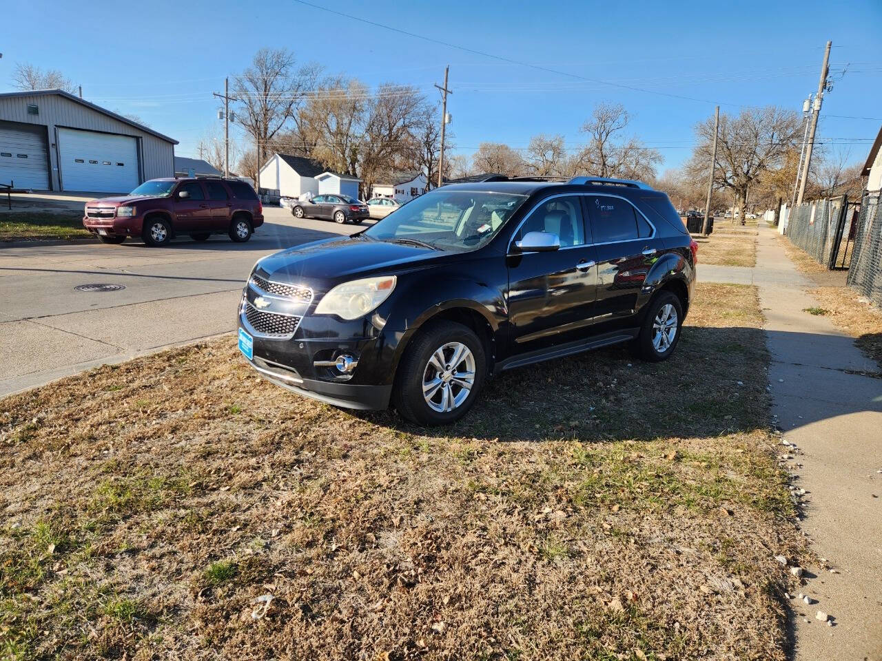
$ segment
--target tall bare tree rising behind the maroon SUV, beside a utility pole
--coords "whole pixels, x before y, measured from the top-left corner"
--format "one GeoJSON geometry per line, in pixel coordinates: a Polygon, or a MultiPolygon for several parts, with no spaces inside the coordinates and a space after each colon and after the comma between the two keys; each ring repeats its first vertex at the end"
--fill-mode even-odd
{"type": "MultiPolygon", "coordinates": [[[[284,48],[261,48],[251,66],[233,80],[236,122],[257,143],[257,161],[263,163],[269,144],[303,105],[305,94],[318,78],[317,64],[295,67],[295,56],[284,48]]],[[[257,165],[249,168],[257,181],[257,165]]]]}

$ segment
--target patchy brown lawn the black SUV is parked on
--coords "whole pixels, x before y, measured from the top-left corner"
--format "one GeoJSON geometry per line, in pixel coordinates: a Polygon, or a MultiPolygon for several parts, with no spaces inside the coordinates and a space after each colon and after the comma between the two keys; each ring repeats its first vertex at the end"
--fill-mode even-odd
{"type": "Polygon", "coordinates": [[[761,323],[699,285],[668,362],[506,373],[445,429],[296,397],[232,337],[6,397],[0,650],[784,659],[761,323]]]}

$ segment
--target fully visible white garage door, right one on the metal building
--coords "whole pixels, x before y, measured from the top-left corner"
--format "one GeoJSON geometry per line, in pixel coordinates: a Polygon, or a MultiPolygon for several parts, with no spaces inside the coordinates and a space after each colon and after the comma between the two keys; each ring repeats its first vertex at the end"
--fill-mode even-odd
{"type": "Polygon", "coordinates": [[[129,193],[138,188],[138,141],[91,130],[58,129],[64,190],[129,193]]]}

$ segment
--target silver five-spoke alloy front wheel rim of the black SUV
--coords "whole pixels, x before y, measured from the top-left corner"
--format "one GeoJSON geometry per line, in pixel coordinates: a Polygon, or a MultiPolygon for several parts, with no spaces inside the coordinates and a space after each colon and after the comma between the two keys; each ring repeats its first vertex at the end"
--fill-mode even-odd
{"type": "Polygon", "coordinates": [[[422,397],[438,413],[451,412],[462,405],[474,385],[475,356],[461,342],[438,347],[422,373],[422,397]]]}

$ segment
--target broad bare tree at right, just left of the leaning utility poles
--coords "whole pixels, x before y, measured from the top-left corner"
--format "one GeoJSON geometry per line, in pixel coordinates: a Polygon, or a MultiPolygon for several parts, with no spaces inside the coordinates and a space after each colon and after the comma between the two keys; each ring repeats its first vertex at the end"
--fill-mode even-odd
{"type": "MultiPolygon", "coordinates": [[[[744,109],[740,115],[720,115],[714,186],[729,189],[744,219],[748,191],[759,185],[760,177],[783,167],[799,140],[801,122],[794,112],[774,106],[744,109]]],[[[706,176],[714,138],[714,117],[695,127],[699,145],[692,152],[686,169],[697,179],[706,176]]]]}

